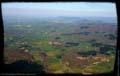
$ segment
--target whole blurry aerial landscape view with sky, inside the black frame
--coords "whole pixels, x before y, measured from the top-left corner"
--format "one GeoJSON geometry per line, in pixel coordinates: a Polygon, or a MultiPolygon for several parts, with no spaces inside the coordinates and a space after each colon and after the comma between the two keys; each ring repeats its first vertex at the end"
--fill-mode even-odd
{"type": "Polygon", "coordinates": [[[99,74],[114,70],[114,3],[2,3],[2,16],[4,63],[13,69],[8,72],[99,74]]]}

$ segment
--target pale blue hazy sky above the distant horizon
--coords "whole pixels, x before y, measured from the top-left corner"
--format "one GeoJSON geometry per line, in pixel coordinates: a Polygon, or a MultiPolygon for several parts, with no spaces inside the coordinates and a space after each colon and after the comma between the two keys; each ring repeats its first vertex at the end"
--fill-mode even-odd
{"type": "Polygon", "coordinates": [[[51,2],[51,3],[2,3],[3,15],[20,16],[103,16],[116,17],[114,3],[100,2],[51,2]]]}

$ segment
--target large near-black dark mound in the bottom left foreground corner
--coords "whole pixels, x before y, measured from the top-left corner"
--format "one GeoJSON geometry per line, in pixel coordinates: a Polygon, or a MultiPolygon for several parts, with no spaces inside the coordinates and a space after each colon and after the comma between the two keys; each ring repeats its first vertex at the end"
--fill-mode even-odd
{"type": "Polygon", "coordinates": [[[19,60],[12,64],[5,64],[6,73],[45,73],[42,65],[26,60],[19,60]]]}

